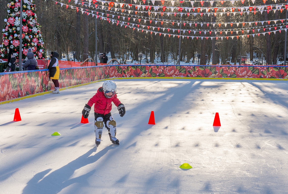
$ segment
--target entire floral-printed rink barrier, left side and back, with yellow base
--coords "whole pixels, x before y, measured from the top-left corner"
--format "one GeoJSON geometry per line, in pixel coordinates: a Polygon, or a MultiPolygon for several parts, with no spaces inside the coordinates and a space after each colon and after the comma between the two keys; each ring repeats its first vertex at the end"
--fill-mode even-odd
{"type": "MultiPolygon", "coordinates": [[[[103,65],[60,68],[60,91],[106,79],[288,80],[288,66],[103,65]]],[[[0,73],[0,104],[49,94],[48,69],[0,73]]]]}

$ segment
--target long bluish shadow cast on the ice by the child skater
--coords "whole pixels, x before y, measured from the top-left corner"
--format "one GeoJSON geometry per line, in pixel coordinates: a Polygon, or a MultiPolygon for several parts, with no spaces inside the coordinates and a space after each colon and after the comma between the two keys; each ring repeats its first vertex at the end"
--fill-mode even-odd
{"type": "Polygon", "coordinates": [[[62,189],[76,184],[88,184],[87,179],[92,176],[96,170],[83,174],[81,176],[71,178],[75,170],[80,169],[88,164],[96,162],[99,158],[103,157],[109,150],[116,148],[115,145],[110,145],[103,150],[96,152],[96,147],[90,149],[84,155],[71,161],[65,166],[62,166],[58,170],[50,173],[52,169],[47,169],[35,174],[35,176],[27,183],[23,189],[23,194],[41,193],[41,194],[56,194],[62,189]],[[50,173],[50,174],[49,174],[50,173]],[[47,175],[47,176],[46,176],[47,175]]]}

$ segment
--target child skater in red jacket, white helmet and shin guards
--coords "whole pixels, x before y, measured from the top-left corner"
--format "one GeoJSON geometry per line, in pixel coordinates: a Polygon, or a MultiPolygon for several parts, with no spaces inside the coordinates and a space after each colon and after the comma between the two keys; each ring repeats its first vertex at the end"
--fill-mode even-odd
{"type": "Polygon", "coordinates": [[[101,142],[101,135],[104,124],[108,130],[111,142],[115,145],[119,145],[119,140],[115,137],[116,121],[113,119],[110,113],[112,109],[112,102],[118,106],[120,117],[123,117],[126,113],[125,106],[117,98],[116,84],[112,80],[107,80],[103,83],[102,87],[97,90],[97,93],[92,98],[90,98],[88,103],[85,104],[82,111],[83,117],[88,118],[91,107],[94,104],[94,127],[96,135],[95,144],[97,147],[101,142]]]}

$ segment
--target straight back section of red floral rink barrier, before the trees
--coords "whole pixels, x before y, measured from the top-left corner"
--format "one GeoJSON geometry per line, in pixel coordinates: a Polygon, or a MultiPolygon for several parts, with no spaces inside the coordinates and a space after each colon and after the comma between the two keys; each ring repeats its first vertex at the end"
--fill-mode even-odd
{"type": "MultiPolygon", "coordinates": [[[[108,66],[112,77],[199,77],[287,79],[288,66],[108,66]]],[[[107,67],[106,67],[107,68],[107,67]]],[[[108,77],[107,77],[108,76],[108,77]]]]}

